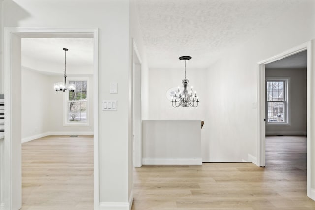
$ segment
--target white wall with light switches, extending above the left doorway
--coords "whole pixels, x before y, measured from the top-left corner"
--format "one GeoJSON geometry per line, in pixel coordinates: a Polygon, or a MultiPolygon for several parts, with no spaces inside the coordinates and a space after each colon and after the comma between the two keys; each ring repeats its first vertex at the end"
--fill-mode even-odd
{"type": "MultiPolygon", "coordinates": [[[[43,28],[99,28],[99,105],[117,100],[116,112],[99,107],[100,208],[129,200],[129,69],[128,0],[38,1],[6,0],[4,26],[43,28]],[[118,94],[110,94],[110,82],[118,94]]],[[[138,44],[139,45],[139,44],[138,44]]],[[[96,201],[97,202],[97,201],[96,201]]]]}

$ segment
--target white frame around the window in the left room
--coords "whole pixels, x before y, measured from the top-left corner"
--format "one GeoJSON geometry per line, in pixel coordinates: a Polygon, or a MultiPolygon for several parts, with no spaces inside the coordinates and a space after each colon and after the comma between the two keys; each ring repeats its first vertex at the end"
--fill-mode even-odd
{"type": "Polygon", "coordinates": [[[90,78],[89,77],[67,77],[67,86],[69,81],[87,81],[87,121],[69,122],[69,91],[66,90],[63,100],[63,126],[90,126],[90,78]]]}

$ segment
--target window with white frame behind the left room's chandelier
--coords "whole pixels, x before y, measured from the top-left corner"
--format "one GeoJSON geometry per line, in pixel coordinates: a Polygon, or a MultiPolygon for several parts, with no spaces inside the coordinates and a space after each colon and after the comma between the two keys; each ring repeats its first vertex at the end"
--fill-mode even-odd
{"type": "Polygon", "coordinates": [[[88,125],[88,80],[70,79],[68,83],[75,85],[75,91],[66,92],[64,125],[88,125]]]}

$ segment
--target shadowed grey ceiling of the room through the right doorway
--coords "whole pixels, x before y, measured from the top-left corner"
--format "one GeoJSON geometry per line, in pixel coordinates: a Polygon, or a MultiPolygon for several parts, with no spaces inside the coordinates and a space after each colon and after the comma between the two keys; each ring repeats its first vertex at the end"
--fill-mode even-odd
{"type": "Polygon", "coordinates": [[[281,60],[269,63],[266,68],[306,68],[307,67],[307,51],[294,54],[281,60]]]}

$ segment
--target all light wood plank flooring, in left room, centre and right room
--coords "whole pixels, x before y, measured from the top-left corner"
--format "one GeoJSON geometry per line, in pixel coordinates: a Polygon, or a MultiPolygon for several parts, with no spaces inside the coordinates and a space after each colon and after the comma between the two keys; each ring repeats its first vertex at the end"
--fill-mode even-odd
{"type": "MultiPolygon", "coordinates": [[[[134,169],[132,210],[315,210],[306,196],[306,138],[268,137],[252,163],[134,169]]],[[[93,137],[22,144],[21,210],[93,210],[93,137]]]]}

